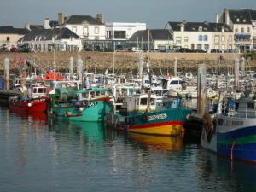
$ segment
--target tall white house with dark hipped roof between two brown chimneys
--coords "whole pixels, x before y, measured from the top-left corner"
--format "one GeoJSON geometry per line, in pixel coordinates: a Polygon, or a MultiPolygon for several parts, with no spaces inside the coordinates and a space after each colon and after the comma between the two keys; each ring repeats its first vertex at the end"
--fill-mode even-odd
{"type": "Polygon", "coordinates": [[[106,26],[103,18],[104,16],[99,14],[97,18],[90,15],[71,15],[65,19],[60,13],[58,24],[67,27],[84,40],[105,40],[106,26]]]}

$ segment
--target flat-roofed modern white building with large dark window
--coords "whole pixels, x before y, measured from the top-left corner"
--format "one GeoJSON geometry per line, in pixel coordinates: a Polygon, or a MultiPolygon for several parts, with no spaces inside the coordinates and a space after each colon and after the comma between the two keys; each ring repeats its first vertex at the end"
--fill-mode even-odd
{"type": "Polygon", "coordinates": [[[107,22],[107,39],[128,40],[135,32],[146,30],[146,27],[146,23],[107,22]]]}

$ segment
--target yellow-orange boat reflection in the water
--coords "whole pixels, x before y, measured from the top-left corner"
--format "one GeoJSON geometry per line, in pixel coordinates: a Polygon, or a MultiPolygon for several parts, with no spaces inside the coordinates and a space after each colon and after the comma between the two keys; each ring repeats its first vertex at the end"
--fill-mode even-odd
{"type": "Polygon", "coordinates": [[[183,137],[164,137],[154,135],[143,135],[129,133],[128,137],[137,143],[141,143],[148,148],[158,150],[176,151],[183,149],[183,137]]]}

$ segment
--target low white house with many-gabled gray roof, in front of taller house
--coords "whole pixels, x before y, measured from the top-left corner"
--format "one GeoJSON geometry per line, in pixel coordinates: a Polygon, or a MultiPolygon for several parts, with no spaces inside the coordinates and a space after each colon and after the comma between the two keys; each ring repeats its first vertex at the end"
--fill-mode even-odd
{"type": "Polygon", "coordinates": [[[31,31],[19,40],[20,46],[25,44],[38,51],[77,51],[83,49],[82,39],[65,27],[31,31]]]}

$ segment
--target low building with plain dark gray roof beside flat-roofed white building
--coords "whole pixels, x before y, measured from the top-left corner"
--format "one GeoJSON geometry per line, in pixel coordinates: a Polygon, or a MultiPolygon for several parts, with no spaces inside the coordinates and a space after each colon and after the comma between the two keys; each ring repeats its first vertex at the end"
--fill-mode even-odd
{"type": "Polygon", "coordinates": [[[173,38],[169,30],[147,29],[135,32],[128,44],[130,47],[141,50],[166,51],[166,49],[172,49],[173,38]]]}

